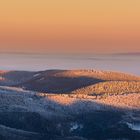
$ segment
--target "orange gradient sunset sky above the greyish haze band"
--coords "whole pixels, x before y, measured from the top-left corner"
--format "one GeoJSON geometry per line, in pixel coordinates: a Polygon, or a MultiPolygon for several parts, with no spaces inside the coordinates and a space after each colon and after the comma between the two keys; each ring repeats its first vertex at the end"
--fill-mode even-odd
{"type": "Polygon", "coordinates": [[[0,52],[140,52],[140,0],[1,0],[0,52]]]}

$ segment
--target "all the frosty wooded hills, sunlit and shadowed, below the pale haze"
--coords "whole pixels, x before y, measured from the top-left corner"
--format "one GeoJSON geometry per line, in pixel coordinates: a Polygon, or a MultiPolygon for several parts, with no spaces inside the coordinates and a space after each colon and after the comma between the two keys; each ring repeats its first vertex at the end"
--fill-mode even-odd
{"type": "Polygon", "coordinates": [[[140,122],[139,77],[95,70],[7,71],[0,77],[2,140],[140,138],[127,126],[140,122]]]}

